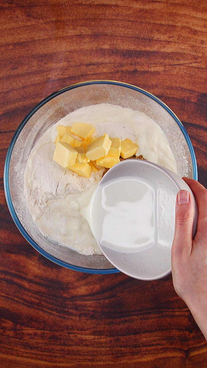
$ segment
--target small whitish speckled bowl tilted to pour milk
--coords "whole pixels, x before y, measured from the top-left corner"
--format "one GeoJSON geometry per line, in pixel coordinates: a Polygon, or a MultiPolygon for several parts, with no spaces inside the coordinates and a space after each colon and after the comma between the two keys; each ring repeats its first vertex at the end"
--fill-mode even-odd
{"type": "MultiPolygon", "coordinates": [[[[138,159],[124,160],[108,170],[92,195],[87,209],[87,220],[99,247],[113,266],[126,275],[140,280],[159,279],[171,272],[171,247],[175,227],[175,202],[176,195],[180,190],[189,191],[193,199],[194,236],[197,225],[197,204],[193,192],[177,174],[162,166],[138,159]],[[122,226],[119,227],[118,234],[117,224],[113,226],[114,218],[113,216],[110,217],[111,204],[109,201],[116,202],[122,199],[123,201],[127,201],[126,198],[129,197],[129,191],[128,195],[126,195],[126,192],[114,192],[115,198],[107,198],[109,215],[104,216],[102,212],[103,191],[106,193],[105,188],[115,182],[126,181],[128,179],[133,180],[133,182],[148,183],[154,193],[154,241],[145,241],[145,244],[138,244],[136,248],[130,245],[131,233],[129,230],[129,222],[126,221],[126,223],[128,223],[126,226],[121,222],[122,226]],[[106,222],[106,217],[108,217],[108,222],[106,222]],[[106,226],[108,226],[107,228],[109,229],[107,233],[107,239],[109,241],[103,241],[102,237],[103,231],[106,233],[106,230],[104,230],[106,226]],[[123,239],[123,242],[121,241],[120,243],[124,243],[124,239],[126,239],[126,243],[128,242],[128,244],[123,247],[123,244],[119,246],[119,244],[115,245],[113,241],[110,242],[110,239],[115,239],[116,236],[121,240],[123,239]]],[[[104,196],[105,195],[106,194],[104,194],[104,196]]],[[[125,213],[125,218],[128,218],[127,216],[130,221],[131,213],[125,213]]],[[[140,216],[140,209],[138,216],[140,216]]],[[[144,221],[142,217],[139,218],[140,222],[144,221]]],[[[145,235],[146,237],[148,236],[148,234],[145,235]]],[[[183,236],[185,236],[185,234],[183,234],[183,236]]]]}

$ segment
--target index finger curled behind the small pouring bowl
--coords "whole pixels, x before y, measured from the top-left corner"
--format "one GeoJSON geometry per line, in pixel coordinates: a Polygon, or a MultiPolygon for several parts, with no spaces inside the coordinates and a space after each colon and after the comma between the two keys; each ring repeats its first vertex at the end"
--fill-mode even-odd
{"type": "Polygon", "coordinates": [[[196,198],[199,213],[197,230],[200,230],[202,226],[207,232],[207,189],[196,180],[186,177],[183,177],[183,180],[189,185],[196,198]]]}

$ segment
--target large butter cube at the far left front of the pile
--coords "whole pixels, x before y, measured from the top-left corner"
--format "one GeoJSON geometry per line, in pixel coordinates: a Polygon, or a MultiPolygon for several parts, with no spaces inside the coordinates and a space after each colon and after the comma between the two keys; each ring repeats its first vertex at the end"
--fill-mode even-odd
{"type": "Polygon", "coordinates": [[[73,166],[76,162],[78,152],[67,142],[57,142],[53,160],[62,167],[73,166]]]}

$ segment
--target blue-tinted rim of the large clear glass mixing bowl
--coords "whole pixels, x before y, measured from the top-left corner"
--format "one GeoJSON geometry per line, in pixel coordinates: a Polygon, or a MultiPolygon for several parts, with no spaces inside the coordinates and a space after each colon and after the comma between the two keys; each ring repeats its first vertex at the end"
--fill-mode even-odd
{"type": "Polygon", "coordinates": [[[20,230],[20,232],[24,236],[24,238],[28,241],[28,243],[31,244],[32,247],[34,247],[40,254],[42,254],[43,256],[45,256],[46,258],[48,258],[50,261],[53,261],[54,263],[56,263],[56,264],[58,264],[60,266],[63,266],[65,268],[68,268],[68,269],[71,269],[71,270],[74,270],[74,271],[80,271],[80,272],[85,272],[85,273],[94,273],[94,274],[110,274],[110,273],[118,273],[120,271],[118,269],[116,269],[116,268],[93,269],[93,268],[86,268],[86,267],[80,267],[80,266],[71,265],[70,263],[66,263],[64,261],[61,261],[60,259],[56,258],[55,256],[52,256],[48,252],[44,251],[29,236],[29,234],[27,233],[27,231],[22,226],[20,220],[18,219],[18,216],[17,216],[17,214],[15,212],[15,209],[14,209],[14,206],[13,206],[13,203],[12,203],[12,200],[11,200],[11,194],[10,194],[10,189],[9,189],[9,178],[8,178],[8,174],[9,174],[9,165],[10,165],[11,154],[13,152],[13,148],[14,148],[15,142],[17,141],[17,138],[20,135],[20,132],[22,131],[22,129],[24,128],[24,126],[27,124],[27,122],[31,118],[31,116],[34,115],[43,105],[45,105],[47,102],[49,102],[50,100],[52,100],[56,96],[59,96],[62,93],[66,92],[66,91],[70,91],[70,90],[72,90],[74,88],[78,88],[78,87],[85,86],[85,85],[91,85],[91,84],[109,84],[109,85],[112,84],[112,85],[118,85],[118,86],[123,86],[123,87],[126,87],[126,88],[130,88],[130,89],[133,89],[133,90],[135,90],[137,92],[143,93],[144,95],[150,97],[155,102],[157,102],[159,105],[161,105],[162,107],[164,107],[164,109],[176,121],[176,123],[178,124],[181,132],[184,135],[184,138],[185,138],[186,143],[188,145],[188,148],[189,148],[189,151],[190,151],[190,156],[191,156],[191,159],[192,159],[193,179],[194,180],[197,180],[198,173],[197,173],[196,156],[195,156],[195,153],[194,153],[194,149],[193,149],[192,143],[190,141],[189,135],[187,134],[187,131],[186,131],[185,127],[183,126],[183,124],[181,123],[181,121],[179,120],[179,118],[158,97],[156,97],[155,95],[153,95],[152,93],[150,93],[148,91],[145,91],[145,89],[143,89],[143,88],[134,86],[134,85],[129,84],[129,83],[119,82],[119,81],[113,81],[113,80],[108,80],[108,79],[95,79],[95,80],[89,80],[89,81],[84,81],[84,82],[78,82],[78,83],[75,83],[75,84],[71,84],[69,86],[66,86],[64,88],[59,89],[56,92],[53,92],[52,94],[50,94],[49,96],[47,96],[45,99],[41,100],[25,116],[25,118],[22,120],[22,122],[18,126],[17,130],[15,131],[15,133],[13,135],[13,138],[11,139],[11,142],[10,142],[10,145],[8,147],[7,154],[6,154],[5,164],[4,164],[4,192],[5,192],[5,197],[6,197],[8,209],[10,211],[11,217],[14,220],[14,223],[16,224],[18,230],[20,230]]]}

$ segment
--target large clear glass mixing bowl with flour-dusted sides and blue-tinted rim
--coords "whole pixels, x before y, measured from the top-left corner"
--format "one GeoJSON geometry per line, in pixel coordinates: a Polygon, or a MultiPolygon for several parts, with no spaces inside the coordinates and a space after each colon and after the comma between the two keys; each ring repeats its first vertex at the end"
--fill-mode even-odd
{"type": "Polygon", "coordinates": [[[100,255],[84,256],[53,245],[34,225],[24,197],[24,171],[31,149],[48,128],[83,106],[111,103],[140,110],[165,132],[176,160],[178,174],[197,180],[197,165],[190,138],[178,117],[160,99],[136,86],[116,81],[87,81],[61,89],[42,100],[24,118],[8,148],[4,190],[11,216],[22,235],[51,261],[81,272],[119,272],[100,255]]]}

